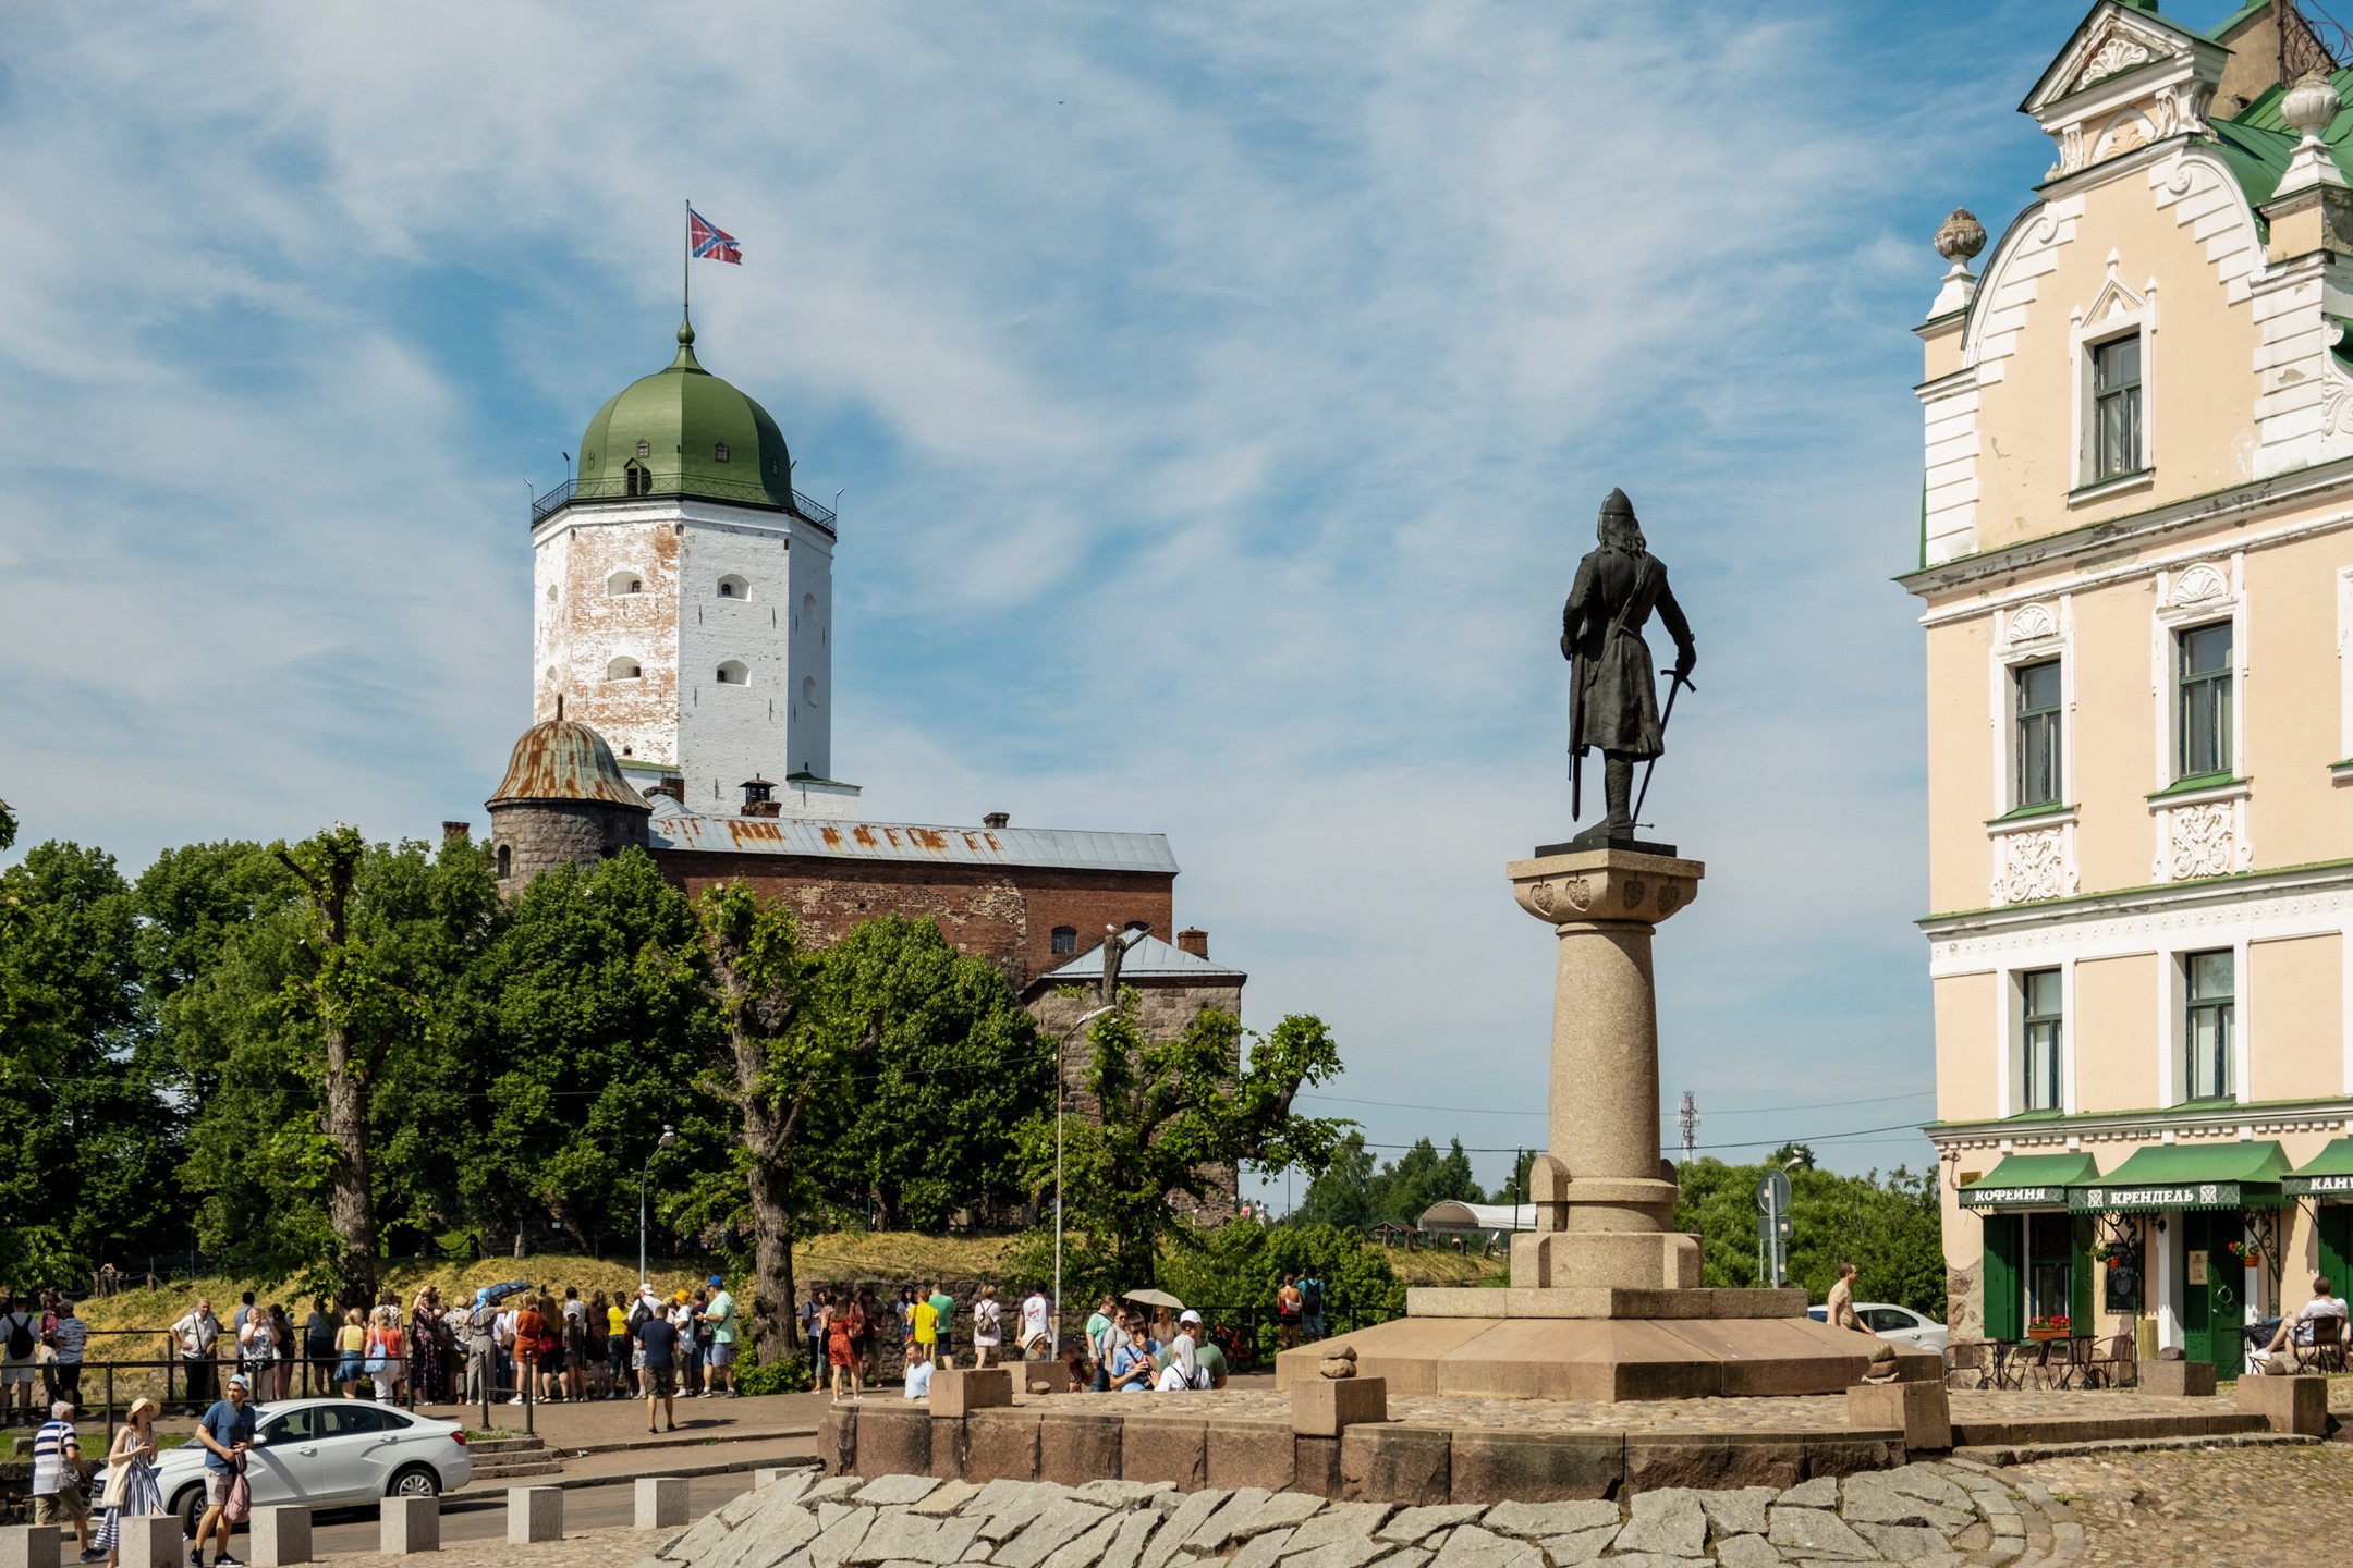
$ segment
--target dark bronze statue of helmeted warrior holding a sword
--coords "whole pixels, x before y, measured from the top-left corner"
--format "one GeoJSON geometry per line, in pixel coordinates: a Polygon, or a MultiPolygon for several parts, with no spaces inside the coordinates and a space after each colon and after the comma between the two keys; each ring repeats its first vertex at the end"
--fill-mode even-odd
{"type": "MultiPolygon", "coordinates": [[[[1577,585],[1560,611],[1560,656],[1569,661],[1569,816],[1584,806],[1579,795],[1586,748],[1598,750],[1605,764],[1607,816],[1577,835],[1574,844],[1581,849],[1666,849],[1633,837],[1640,809],[1633,764],[1654,762],[1666,750],[1659,686],[1649,672],[1649,644],[1642,642],[1642,623],[1652,609],[1675,639],[1675,665],[1664,670],[1675,682],[1666,693],[1673,712],[1675,689],[1687,686],[1699,665],[1699,646],[1666,585],[1666,564],[1642,541],[1633,503],[1626,491],[1612,489],[1602,501],[1600,548],[1577,562],[1577,585]]],[[[1647,776],[1642,785],[1647,792],[1647,776]]]]}

